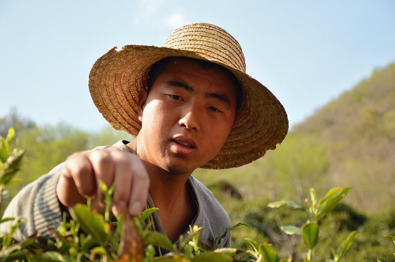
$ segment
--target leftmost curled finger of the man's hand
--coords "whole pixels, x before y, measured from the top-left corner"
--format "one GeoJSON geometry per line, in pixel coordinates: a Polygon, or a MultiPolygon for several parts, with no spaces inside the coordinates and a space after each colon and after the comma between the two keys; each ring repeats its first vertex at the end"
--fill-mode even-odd
{"type": "Polygon", "coordinates": [[[85,155],[71,155],[66,161],[64,176],[74,180],[78,192],[83,197],[88,198],[95,195],[96,180],[92,165],[85,155]]]}

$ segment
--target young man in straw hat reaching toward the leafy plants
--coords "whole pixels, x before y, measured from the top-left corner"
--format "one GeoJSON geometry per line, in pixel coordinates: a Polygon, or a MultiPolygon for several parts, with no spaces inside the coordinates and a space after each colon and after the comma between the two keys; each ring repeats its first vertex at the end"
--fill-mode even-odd
{"type": "Polygon", "coordinates": [[[45,232],[87,198],[100,210],[102,180],[116,185],[113,213],[156,206],[155,230],[176,241],[188,225],[202,226],[200,241],[212,246],[229,217],[192,172],[250,163],[288,130],[276,97],[245,74],[236,39],[210,24],[179,28],[161,47],[111,49],[94,64],[89,90],[107,121],[135,139],[77,152],[22,189],[4,214],[27,219],[18,238],[45,232]]]}

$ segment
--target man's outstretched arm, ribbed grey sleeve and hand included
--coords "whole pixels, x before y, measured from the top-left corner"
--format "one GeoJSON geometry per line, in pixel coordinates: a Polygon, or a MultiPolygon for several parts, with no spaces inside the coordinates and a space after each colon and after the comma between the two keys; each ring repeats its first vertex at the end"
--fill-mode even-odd
{"type": "MultiPolygon", "coordinates": [[[[103,194],[97,186],[102,180],[110,187],[115,183],[112,211],[139,214],[147,201],[149,177],[137,155],[116,147],[100,147],[77,152],[53,168],[47,175],[24,187],[5,210],[3,217],[20,216],[26,224],[20,226],[14,238],[23,239],[36,232],[48,233],[62,220],[62,207],[86,203],[104,205],[103,194]],[[136,207],[136,203],[139,203],[136,207]],[[143,205],[144,204],[144,205],[143,205]]],[[[0,231],[8,231],[12,221],[0,224],[0,231]]]]}

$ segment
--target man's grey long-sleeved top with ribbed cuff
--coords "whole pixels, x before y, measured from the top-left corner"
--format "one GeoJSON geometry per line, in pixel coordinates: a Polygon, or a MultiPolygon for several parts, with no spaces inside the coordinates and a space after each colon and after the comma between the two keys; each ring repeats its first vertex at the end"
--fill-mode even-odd
{"type": "MultiPolygon", "coordinates": [[[[127,141],[118,141],[113,146],[129,152],[125,146],[126,143],[127,141]]],[[[96,149],[103,148],[98,147],[96,149]]],[[[54,228],[55,225],[62,221],[61,206],[56,196],[56,184],[63,168],[64,163],[61,163],[48,174],[22,188],[8,205],[3,217],[20,216],[26,219],[26,224],[21,225],[19,230],[15,232],[14,237],[16,239],[23,239],[34,233],[46,234],[48,228],[54,228]]],[[[193,176],[190,176],[188,183],[190,183],[195,195],[198,209],[196,217],[191,221],[191,225],[203,227],[199,241],[214,248],[214,243],[209,239],[210,237],[215,238],[221,235],[231,225],[229,216],[210,190],[202,183],[193,176]]],[[[148,206],[155,206],[151,196],[148,198],[148,206]]],[[[153,220],[156,230],[165,234],[158,212],[153,214],[153,220]]],[[[0,231],[7,231],[10,223],[12,222],[0,224],[0,231]]],[[[230,241],[229,233],[221,241],[220,247],[230,247],[230,241]]]]}

